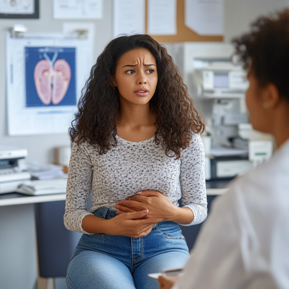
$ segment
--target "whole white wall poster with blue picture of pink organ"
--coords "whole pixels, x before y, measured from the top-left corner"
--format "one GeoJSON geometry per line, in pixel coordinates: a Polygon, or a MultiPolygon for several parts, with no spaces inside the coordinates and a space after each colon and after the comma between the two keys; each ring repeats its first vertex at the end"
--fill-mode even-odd
{"type": "Polygon", "coordinates": [[[11,38],[7,33],[8,134],[67,134],[93,64],[93,42],[89,38],[63,33],[26,33],[24,38],[11,38]],[[37,50],[41,50],[38,61],[37,50]],[[34,59],[30,71],[26,52],[34,59]],[[35,71],[35,63],[40,61],[35,71]]]}

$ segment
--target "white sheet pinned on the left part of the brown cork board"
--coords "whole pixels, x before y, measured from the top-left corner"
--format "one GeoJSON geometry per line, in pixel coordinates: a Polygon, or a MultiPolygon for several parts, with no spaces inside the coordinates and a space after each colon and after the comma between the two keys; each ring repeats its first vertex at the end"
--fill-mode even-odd
{"type": "Polygon", "coordinates": [[[149,0],[148,33],[151,35],[176,34],[176,0],[149,0]]]}

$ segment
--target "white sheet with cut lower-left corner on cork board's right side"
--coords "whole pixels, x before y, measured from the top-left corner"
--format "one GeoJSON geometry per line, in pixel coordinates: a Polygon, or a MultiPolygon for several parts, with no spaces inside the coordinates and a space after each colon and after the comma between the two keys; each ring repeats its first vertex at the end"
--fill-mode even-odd
{"type": "Polygon", "coordinates": [[[223,0],[186,0],[185,24],[200,35],[223,35],[223,0]]]}

